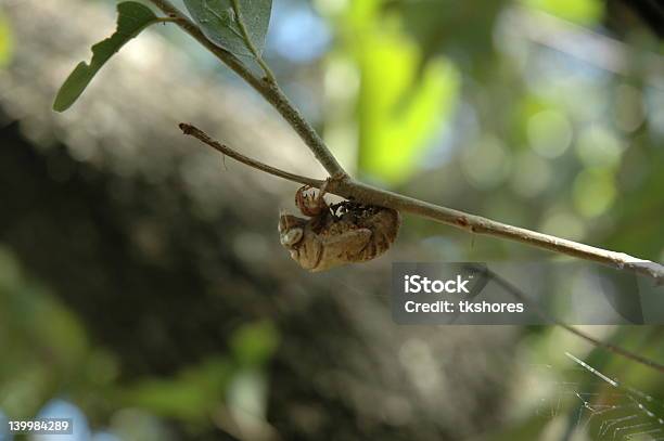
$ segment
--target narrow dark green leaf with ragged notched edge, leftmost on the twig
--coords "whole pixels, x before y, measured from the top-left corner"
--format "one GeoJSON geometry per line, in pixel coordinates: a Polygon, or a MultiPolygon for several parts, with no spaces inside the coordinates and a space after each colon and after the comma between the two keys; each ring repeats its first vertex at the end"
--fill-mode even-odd
{"type": "Polygon", "coordinates": [[[117,28],[115,33],[92,47],[90,64],[80,62],[60,88],[53,109],[64,112],[74,104],[101,67],[141,30],[159,18],[146,7],[133,1],[117,5],[117,28]]]}

